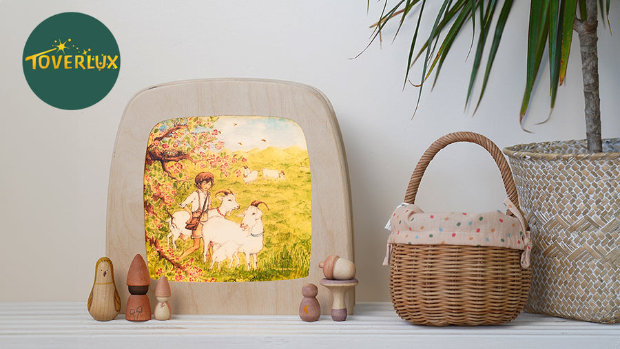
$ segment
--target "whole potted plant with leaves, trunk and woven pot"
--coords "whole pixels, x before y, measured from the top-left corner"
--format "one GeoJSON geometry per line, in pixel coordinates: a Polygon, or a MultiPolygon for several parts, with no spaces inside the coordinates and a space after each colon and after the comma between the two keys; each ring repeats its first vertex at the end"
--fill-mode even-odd
{"type": "MultiPolygon", "coordinates": [[[[521,124],[544,50],[548,47],[552,108],[557,87],[566,74],[572,34],[577,32],[586,105],[586,140],[515,145],[504,149],[504,153],[513,167],[521,209],[528,218],[535,244],[533,280],[526,310],[617,323],[620,322],[620,138],[601,139],[597,55],[599,3],[606,20],[610,0],[606,3],[603,0],[530,1],[521,124]]],[[[417,13],[408,67],[422,59],[422,78],[417,85],[420,87],[419,103],[429,74],[435,71],[436,82],[455,37],[471,24],[479,31],[479,36],[467,101],[480,74],[487,39],[491,39],[482,89],[477,98],[479,105],[513,0],[444,0],[440,2],[430,34],[420,39],[420,21],[428,15],[424,12],[425,4],[425,0],[400,0],[389,8],[386,2],[380,20],[373,25],[373,40],[389,23],[397,21],[400,28],[412,18],[408,16],[410,12],[417,13]],[[492,28],[493,35],[489,35],[492,28]],[[415,55],[415,45],[420,43],[422,47],[415,55]]],[[[406,75],[409,75],[409,68],[406,75]]]]}

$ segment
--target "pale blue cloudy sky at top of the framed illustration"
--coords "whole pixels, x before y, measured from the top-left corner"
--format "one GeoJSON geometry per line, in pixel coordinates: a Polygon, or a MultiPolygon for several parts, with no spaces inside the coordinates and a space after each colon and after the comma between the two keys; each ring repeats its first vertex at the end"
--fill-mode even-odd
{"type": "Polygon", "coordinates": [[[231,151],[267,147],[285,149],[293,145],[307,149],[301,127],[287,118],[220,116],[214,129],[222,132],[218,140],[225,142],[225,148],[231,151]]]}

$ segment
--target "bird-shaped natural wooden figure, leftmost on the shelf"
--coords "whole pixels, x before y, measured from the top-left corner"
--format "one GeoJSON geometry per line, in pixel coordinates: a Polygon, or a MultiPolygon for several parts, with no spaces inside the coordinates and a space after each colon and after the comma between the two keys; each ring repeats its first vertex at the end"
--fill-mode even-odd
{"type": "Polygon", "coordinates": [[[97,321],[110,321],[121,313],[121,296],[114,284],[114,266],[108,257],[95,264],[95,279],[88,296],[88,313],[97,321]]]}

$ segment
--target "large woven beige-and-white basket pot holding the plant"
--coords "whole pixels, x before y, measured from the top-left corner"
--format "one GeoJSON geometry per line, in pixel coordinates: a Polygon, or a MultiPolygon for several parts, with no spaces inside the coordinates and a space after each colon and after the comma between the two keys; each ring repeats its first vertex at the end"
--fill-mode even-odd
{"type": "Polygon", "coordinates": [[[532,233],[529,313],[620,322],[620,138],[504,149],[532,233]]]}

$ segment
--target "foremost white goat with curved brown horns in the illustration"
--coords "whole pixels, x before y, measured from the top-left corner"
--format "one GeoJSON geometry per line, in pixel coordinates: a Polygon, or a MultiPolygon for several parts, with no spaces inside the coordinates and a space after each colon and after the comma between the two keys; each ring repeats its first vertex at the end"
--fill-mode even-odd
{"type": "MultiPolygon", "coordinates": [[[[203,253],[203,262],[207,262],[207,247],[213,242],[214,251],[211,259],[212,268],[214,263],[235,257],[237,266],[240,261],[237,253],[245,255],[247,270],[251,268],[251,259],[254,256],[254,268],[258,268],[258,253],[263,248],[263,233],[265,226],[262,223],[262,211],[258,209],[259,204],[265,202],[254,200],[243,213],[237,217],[243,217],[241,224],[231,220],[209,220],[203,226],[203,243],[205,252],[203,253]]],[[[267,207],[267,204],[265,204],[267,207]]],[[[269,207],[267,207],[269,209],[269,207]]]]}

